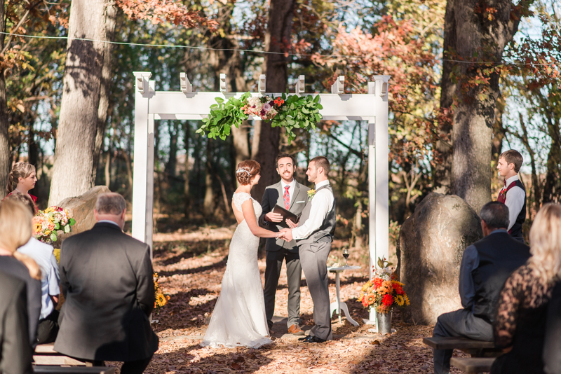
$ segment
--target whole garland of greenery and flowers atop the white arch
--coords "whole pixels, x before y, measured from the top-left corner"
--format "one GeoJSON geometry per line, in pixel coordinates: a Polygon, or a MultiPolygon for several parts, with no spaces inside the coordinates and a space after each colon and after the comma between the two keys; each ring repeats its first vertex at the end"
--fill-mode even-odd
{"type": "Polygon", "coordinates": [[[323,118],[319,95],[286,95],[280,97],[252,97],[245,92],[240,98],[230,97],[224,101],[217,97],[217,104],[210,106],[210,114],[203,118],[203,125],[197,133],[207,134],[210,139],[219,137],[225,140],[230,135],[231,127],[239,127],[249,116],[270,120],[271,127],[284,127],[288,142],[296,138],[295,129],[316,130],[316,124],[323,118]]]}

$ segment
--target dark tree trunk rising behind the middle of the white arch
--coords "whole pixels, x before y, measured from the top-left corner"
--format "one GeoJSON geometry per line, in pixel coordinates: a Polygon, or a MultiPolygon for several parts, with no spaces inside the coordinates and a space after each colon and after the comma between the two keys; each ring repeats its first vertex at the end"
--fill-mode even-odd
{"type": "MultiPolygon", "coordinates": [[[[267,92],[285,92],[288,80],[288,60],[283,54],[290,50],[292,18],[296,0],[271,0],[269,24],[265,32],[265,50],[276,54],[265,56],[267,92]]],[[[254,134],[255,136],[255,134],[254,134]]],[[[278,181],[275,158],[278,155],[280,127],[271,127],[261,122],[259,129],[259,149],[255,160],[261,164],[261,181],[252,191],[253,198],[261,201],[266,186],[278,181]]]]}

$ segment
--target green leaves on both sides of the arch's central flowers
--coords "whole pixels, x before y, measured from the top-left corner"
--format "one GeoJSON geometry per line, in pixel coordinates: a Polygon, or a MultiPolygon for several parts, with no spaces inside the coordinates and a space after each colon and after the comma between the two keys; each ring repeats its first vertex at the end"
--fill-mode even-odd
{"type": "MultiPolygon", "coordinates": [[[[203,125],[196,131],[207,134],[210,139],[219,137],[225,140],[231,132],[231,127],[239,127],[243,120],[249,118],[243,112],[243,106],[251,97],[250,92],[245,92],[239,99],[230,97],[227,102],[221,97],[216,97],[217,104],[210,106],[210,114],[203,118],[203,125]]],[[[277,109],[277,115],[271,120],[271,127],[285,127],[288,143],[296,139],[294,129],[316,130],[316,124],[323,118],[320,109],[320,97],[285,95],[282,98],[284,104],[277,109]]],[[[273,97],[274,99],[274,97],[273,97]]]]}

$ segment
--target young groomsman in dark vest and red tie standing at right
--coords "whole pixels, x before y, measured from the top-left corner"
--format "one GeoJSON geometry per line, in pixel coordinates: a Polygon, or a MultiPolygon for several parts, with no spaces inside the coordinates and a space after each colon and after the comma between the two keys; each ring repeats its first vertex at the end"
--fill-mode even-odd
{"type": "Polygon", "coordinates": [[[518,178],[522,161],[522,155],[515,149],[509,149],[499,156],[496,168],[499,169],[499,175],[504,177],[504,187],[499,191],[496,201],[508,207],[510,218],[508,233],[513,239],[523,243],[522,224],[526,219],[526,189],[518,178]]]}

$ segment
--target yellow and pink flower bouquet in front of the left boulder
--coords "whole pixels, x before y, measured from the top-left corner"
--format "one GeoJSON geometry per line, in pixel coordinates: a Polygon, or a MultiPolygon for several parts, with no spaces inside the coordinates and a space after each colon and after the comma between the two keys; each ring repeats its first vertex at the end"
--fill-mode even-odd
{"type": "Polygon", "coordinates": [[[76,220],[70,216],[68,209],[48,207],[33,217],[33,235],[36,240],[51,244],[57,241],[58,231],[71,233],[75,224],[76,220]]]}

